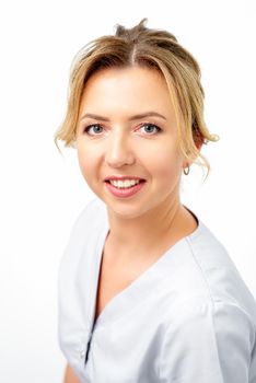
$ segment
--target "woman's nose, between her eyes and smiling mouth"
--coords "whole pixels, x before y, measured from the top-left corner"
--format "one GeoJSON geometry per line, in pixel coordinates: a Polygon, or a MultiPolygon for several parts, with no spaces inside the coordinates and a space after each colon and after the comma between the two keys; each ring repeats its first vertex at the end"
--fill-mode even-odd
{"type": "Polygon", "coordinates": [[[105,155],[108,166],[120,167],[133,164],[135,154],[129,138],[123,132],[112,132],[110,136],[105,155]]]}

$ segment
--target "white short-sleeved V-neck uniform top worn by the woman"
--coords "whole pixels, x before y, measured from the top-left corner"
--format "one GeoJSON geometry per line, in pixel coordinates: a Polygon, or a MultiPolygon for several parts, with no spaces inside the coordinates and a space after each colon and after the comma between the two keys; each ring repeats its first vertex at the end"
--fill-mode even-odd
{"type": "Polygon", "coordinates": [[[197,220],[196,231],[115,295],[93,325],[109,227],[98,198],[80,213],[59,267],[58,339],[81,382],[256,382],[256,302],[197,220]]]}

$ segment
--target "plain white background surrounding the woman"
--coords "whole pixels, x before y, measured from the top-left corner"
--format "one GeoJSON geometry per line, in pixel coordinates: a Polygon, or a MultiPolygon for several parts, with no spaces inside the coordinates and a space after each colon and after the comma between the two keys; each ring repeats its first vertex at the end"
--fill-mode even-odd
{"type": "Polygon", "coordinates": [[[5,1],[0,9],[0,380],[58,383],[57,271],[71,225],[94,197],[73,149],[59,154],[75,53],[120,23],[166,28],[197,58],[212,171],[191,167],[183,202],[229,249],[256,297],[255,1],[5,1]]]}

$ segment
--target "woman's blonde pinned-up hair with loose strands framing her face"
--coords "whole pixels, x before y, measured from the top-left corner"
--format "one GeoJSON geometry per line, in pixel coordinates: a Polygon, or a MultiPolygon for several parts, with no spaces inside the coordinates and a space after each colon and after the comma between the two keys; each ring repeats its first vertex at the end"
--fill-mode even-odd
{"type": "Polygon", "coordinates": [[[170,32],[144,26],[148,19],[131,27],[116,25],[115,35],[93,39],[82,47],[70,68],[66,116],[55,134],[55,143],[75,148],[75,134],[81,96],[89,78],[104,68],[147,67],[160,71],[168,86],[178,126],[178,147],[188,163],[196,162],[210,172],[200,146],[218,141],[203,120],[205,92],[200,83],[200,68],[193,55],[170,32]],[[199,149],[198,149],[199,147],[199,149]]]}

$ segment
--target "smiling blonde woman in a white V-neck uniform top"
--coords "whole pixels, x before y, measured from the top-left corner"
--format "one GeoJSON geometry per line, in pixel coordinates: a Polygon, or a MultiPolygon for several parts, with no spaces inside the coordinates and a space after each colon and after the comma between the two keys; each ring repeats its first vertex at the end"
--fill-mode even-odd
{"type": "Polygon", "coordinates": [[[82,48],[56,134],[95,198],[59,269],[66,383],[256,382],[255,300],[226,249],[179,199],[217,141],[195,58],[143,19],[82,48]]]}

